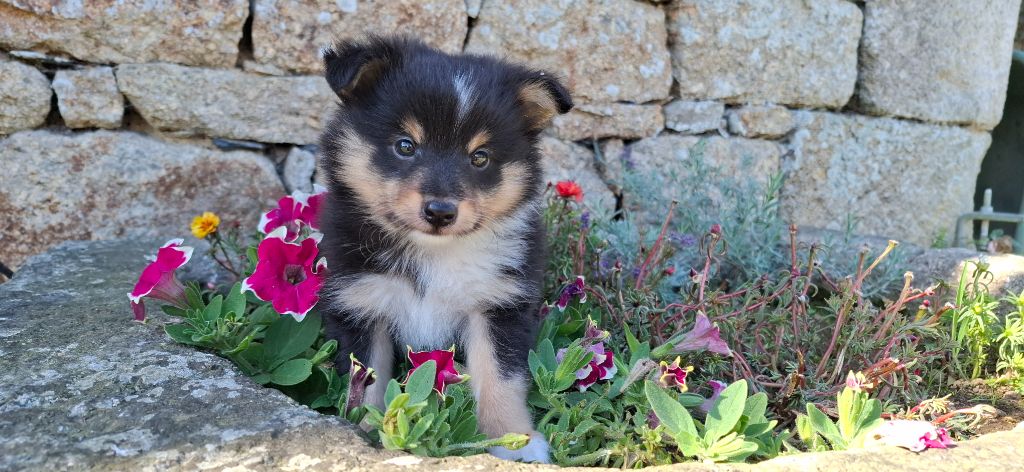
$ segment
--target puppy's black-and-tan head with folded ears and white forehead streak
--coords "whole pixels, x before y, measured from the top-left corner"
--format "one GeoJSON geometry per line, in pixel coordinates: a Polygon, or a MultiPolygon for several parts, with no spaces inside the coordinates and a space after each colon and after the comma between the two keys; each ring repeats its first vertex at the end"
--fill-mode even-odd
{"type": "Polygon", "coordinates": [[[537,196],[537,133],[571,106],[549,75],[407,40],[337,45],[325,55],[343,106],[325,171],[398,233],[457,237],[537,196]]]}

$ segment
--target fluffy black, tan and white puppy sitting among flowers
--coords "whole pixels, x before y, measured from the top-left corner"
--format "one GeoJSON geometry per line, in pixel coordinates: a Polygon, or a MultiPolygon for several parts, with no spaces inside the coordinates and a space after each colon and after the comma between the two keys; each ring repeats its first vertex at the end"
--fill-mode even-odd
{"type": "Polygon", "coordinates": [[[572,108],[550,74],[403,38],[324,53],[341,106],[321,140],[329,198],[323,298],[338,367],[384,387],[406,346],[460,346],[489,437],[530,434],[505,459],[547,462],[526,406],[526,354],[545,265],[538,134],[572,108]]]}

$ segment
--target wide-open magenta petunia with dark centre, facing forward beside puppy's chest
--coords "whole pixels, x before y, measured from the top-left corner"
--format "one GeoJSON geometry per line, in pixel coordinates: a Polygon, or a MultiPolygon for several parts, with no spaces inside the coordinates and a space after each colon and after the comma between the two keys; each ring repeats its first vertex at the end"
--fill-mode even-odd
{"type": "Polygon", "coordinates": [[[316,258],[317,238],[289,243],[286,237],[285,227],[279,227],[260,242],[256,270],[242,281],[242,291],[252,292],[279,313],[301,321],[319,301],[327,261],[316,258]]]}

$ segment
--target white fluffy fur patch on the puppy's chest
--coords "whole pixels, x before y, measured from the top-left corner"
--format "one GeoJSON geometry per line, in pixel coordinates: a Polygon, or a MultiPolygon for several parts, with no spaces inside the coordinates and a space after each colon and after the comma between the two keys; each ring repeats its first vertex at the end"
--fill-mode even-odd
{"type": "Polygon", "coordinates": [[[467,316],[527,292],[520,278],[502,273],[522,262],[527,243],[511,235],[524,225],[513,217],[497,231],[467,238],[414,237],[401,264],[415,281],[401,270],[355,274],[335,283],[335,300],[353,316],[387,323],[399,345],[447,348],[459,342],[467,316]]]}

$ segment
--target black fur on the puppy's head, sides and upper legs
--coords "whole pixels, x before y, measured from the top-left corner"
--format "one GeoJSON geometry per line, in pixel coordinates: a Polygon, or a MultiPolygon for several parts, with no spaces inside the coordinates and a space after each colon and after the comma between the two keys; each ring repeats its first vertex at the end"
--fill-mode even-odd
{"type": "MultiPolygon", "coordinates": [[[[324,60],[327,81],[341,98],[342,106],[321,140],[321,172],[330,190],[322,216],[325,238],[321,245],[330,275],[323,294],[326,303],[321,306],[328,337],[339,342],[337,367],[344,372],[349,353],[367,359],[374,324],[379,321],[367,321],[355,316],[357,313],[346,312],[331,288],[358,274],[391,273],[410,281],[417,287],[417,294],[422,296],[420,290],[424,290],[415,264],[393,263],[410,250],[404,240],[410,229],[394,221],[394,215],[375,215],[373,202],[367,202],[366,196],[336,175],[350,152],[344,147],[346,133],[354,132],[371,144],[373,170],[383,179],[404,182],[421,175],[419,190],[445,198],[463,199],[476,190],[496,188],[502,183],[499,170],[503,166],[523,165],[528,170],[527,179],[514,205],[521,208],[541,198],[543,182],[537,149],[542,126],[527,118],[528,104],[522,102],[519,92],[524,86],[541,85],[551,95],[557,113],[567,112],[572,101],[565,87],[550,74],[486,56],[450,55],[410,39],[372,37],[361,42],[342,42],[327,51],[324,60]],[[462,120],[458,116],[459,98],[452,86],[460,74],[469,74],[477,91],[462,120]],[[397,158],[392,147],[401,121],[410,115],[422,124],[428,136],[415,161],[397,158]],[[489,133],[487,147],[494,155],[494,162],[482,171],[469,167],[467,158],[460,154],[480,130],[489,133]],[[382,217],[387,222],[382,223],[382,217]],[[383,253],[392,257],[386,261],[377,257],[383,253]]],[[[545,265],[544,228],[539,214],[532,216],[528,226],[528,230],[515,235],[527,242],[521,261],[501,268],[502,274],[525,283],[528,293],[515,302],[484,310],[492,342],[496,352],[501,353],[503,372],[519,376],[526,373],[526,353],[534,345],[539,325],[545,265]]],[[[478,281],[484,285],[492,282],[478,281]]],[[[391,341],[404,349],[402,340],[391,341]]],[[[436,348],[446,342],[450,340],[413,347],[436,348]]]]}

